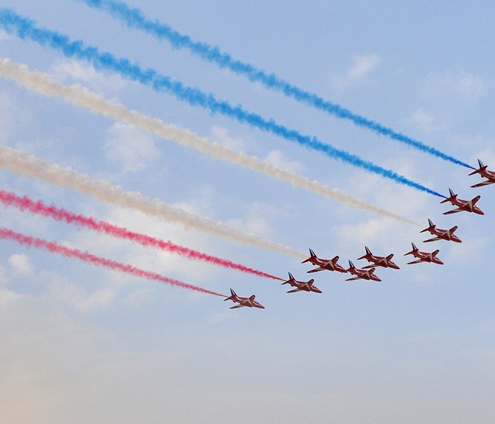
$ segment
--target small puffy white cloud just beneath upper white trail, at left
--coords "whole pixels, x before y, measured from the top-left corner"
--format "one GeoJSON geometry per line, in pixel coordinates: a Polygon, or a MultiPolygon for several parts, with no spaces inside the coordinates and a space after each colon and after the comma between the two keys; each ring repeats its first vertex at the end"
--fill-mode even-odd
{"type": "Polygon", "coordinates": [[[138,172],[160,157],[153,136],[132,126],[117,122],[107,131],[107,158],[121,163],[124,172],[138,172]]]}

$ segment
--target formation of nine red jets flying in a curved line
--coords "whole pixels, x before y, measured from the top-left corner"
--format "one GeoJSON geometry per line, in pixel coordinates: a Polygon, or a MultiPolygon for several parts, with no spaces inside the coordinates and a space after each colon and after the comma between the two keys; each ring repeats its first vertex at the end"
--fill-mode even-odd
{"type": "MultiPolygon", "coordinates": [[[[472,185],[472,188],[484,187],[488,184],[495,184],[495,171],[490,171],[487,169],[487,165],[483,165],[482,161],[478,159],[479,167],[471,172],[469,175],[479,174],[483,179],[482,182],[472,185]]],[[[481,198],[481,196],[475,196],[471,200],[459,199],[458,195],[455,194],[452,189],[449,189],[450,196],[446,197],[441,204],[449,202],[455,208],[450,211],[446,211],[443,215],[450,215],[452,213],[458,212],[470,212],[477,213],[478,215],[484,215],[484,212],[476,206],[477,202],[481,198]]],[[[442,228],[437,228],[431,219],[428,219],[429,226],[421,230],[421,232],[429,232],[433,237],[423,240],[424,243],[428,242],[436,242],[438,240],[446,240],[448,242],[456,242],[461,243],[462,240],[454,234],[454,232],[458,229],[457,225],[454,225],[449,230],[444,230],[442,228]]],[[[437,257],[440,249],[433,250],[433,252],[422,252],[419,248],[414,245],[414,242],[411,243],[412,250],[405,253],[404,256],[412,255],[414,260],[407,262],[407,265],[411,264],[419,264],[421,262],[431,263],[443,265],[443,261],[437,257]]],[[[307,271],[308,273],[315,273],[320,271],[336,271],[340,273],[350,273],[352,275],[351,278],[346,278],[345,281],[356,281],[356,280],[367,280],[367,281],[382,281],[376,274],[375,270],[378,267],[390,268],[390,269],[400,269],[397,264],[392,261],[394,257],[393,253],[388,254],[385,257],[377,256],[371,252],[369,247],[365,246],[366,254],[359,257],[357,260],[366,259],[370,264],[363,266],[362,268],[356,268],[351,260],[349,260],[349,268],[345,269],[344,266],[338,264],[339,256],[335,256],[332,259],[322,259],[315,254],[313,249],[309,249],[310,257],[302,261],[302,264],[310,262],[315,268],[307,271]]],[[[313,293],[322,293],[322,291],[315,287],[314,278],[311,278],[308,281],[298,281],[294,276],[289,272],[289,279],[284,281],[282,285],[289,284],[293,289],[289,290],[287,293],[296,293],[299,291],[313,292],[313,293]]],[[[231,309],[239,308],[239,307],[257,307],[260,309],[264,309],[259,302],[255,300],[255,295],[251,295],[249,298],[241,298],[235,294],[235,292],[231,289],[231,296],[226,297],[225,300],[233,300],[233,302],[237,303],[237,305],[231,307],[231,309]]]]}

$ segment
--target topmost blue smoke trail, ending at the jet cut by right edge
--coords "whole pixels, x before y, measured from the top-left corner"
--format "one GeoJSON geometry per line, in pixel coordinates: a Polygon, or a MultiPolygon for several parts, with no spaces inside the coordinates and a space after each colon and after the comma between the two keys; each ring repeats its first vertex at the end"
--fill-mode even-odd
{"type": "Polygon", "coordinates": [[[211,47],[204,42],[194,42],[188,35],[182,35],[173,30],[169,25],[158,22],[157,20],[148,20],[144,13],[139,8],[130,8],[127,4],[113,0],[79,0],[103,11],[109,11],[114,18],[117,18],[127,24],[130,28],[138,28],[144,32],[157,37],[159,40],[167,40],[172,47],[177,49],[185,48],[192,54],[196,54],[202,59],[206,59],[211,63],[218,65],[220,68],[230,69],[238,75],[247,76],[250,81],[262,83],[265,87],[272,90],[283,92],[285,95],[294,98],[298,102],[303,102],[306,105],[316,107],[319,110],[325,111],[342,119],[349,119],[357,126],[371,129],[377,134],[388,136],[393,140],[401,141],[409,146],[417,148],[438,158],[448,160],[457,165],[462,165],[474,169],[472,166],[464,163],[450,155],[447,155],[438,149],[427,146],[421,141],[412,139],[404,134],[395,132],[393,129],[378,124],[371,119],[355,114],[344,107],[330,102],[320,96],[305,91],[291,83],[284,81],[282,78],[273,73],[266,73],[262,69],[243,61],[235,60],[228,53],[220,52],[219,47],[211,47]]]}

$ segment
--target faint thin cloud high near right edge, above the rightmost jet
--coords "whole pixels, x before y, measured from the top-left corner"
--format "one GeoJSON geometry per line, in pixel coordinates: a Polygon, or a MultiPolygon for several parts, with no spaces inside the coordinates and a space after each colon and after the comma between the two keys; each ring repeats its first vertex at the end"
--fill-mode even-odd
{"type": "Polygon", "coordinates": [[[487,95],[487,83],[480,76],[465,71],[431,72],[426,78],[429,96],[458,95],[465,100],[479,100],[487,95]]]}

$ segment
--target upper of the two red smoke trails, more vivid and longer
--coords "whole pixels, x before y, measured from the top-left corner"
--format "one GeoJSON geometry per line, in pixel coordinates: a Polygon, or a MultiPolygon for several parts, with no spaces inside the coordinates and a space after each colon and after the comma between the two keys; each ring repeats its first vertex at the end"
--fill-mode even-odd
{"type": "Polygon", "coordinates": [[[55,220],[64,220],[66,221],[66,223],[74,223],[85,228],[90,228],[91,230],[105,232],[106,234],[112,235],[113,237],[118,237],[125,240],[132,240],[134,242],[140,243],[143,246],[158,247],[158,249],[163,249],[167,252],[180,254],[187,257],[188,259],[198,259],[210,262],[211,264],[224,266],[226,268],[237,269],[238,271],[242,271],[245,273],[252,273],[257,276],[266,278],[273,278],[274,280],[282,280],[282,278],[272,276],[269,273],[257,271],[256,269],[252,269],[241,264],[236,264],[235,262],[228,261],[227,259],[221,259],[219,257],[214,257],[209,254],[188,249],[187,247],[175,245],[173,242],[170,241],[165,242],[164,240],[160,240],[149,235],[140,234],[139,232],[132,232],[130,230],[127,230],[126,228],[117,227],[116,225],[105,223],[104,221],[100,220],[95,220],[94,218],[88,216],[76,215],[76,213],[66,211],[66,209],[64,208],[57,208],[53,205],[47,206],[42,201],[34,201],[28,196],[21,197],[12,192],[0,190],[0,201],[6,206],[15,206],[16,208],[21,209],[21,211],[28,210],[32,213],[37,213],[38,215],[50,216],[55,220]]]}

